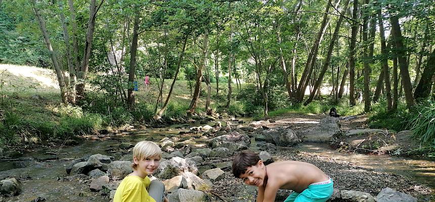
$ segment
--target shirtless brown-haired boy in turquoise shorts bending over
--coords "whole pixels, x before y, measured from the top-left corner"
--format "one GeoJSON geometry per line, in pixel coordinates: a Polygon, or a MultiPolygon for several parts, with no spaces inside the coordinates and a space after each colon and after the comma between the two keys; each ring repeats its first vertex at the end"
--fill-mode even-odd
{"type": "Polygon", "coordinates": [[[257,202],[275,201],[278,189],[294,191],[284,202],[325,202],[334,190],[332,179],[310,163],[285,160],[266,166],[256,153],[247,150],[234,157],[233,174],[258,187],[257,202]]]}

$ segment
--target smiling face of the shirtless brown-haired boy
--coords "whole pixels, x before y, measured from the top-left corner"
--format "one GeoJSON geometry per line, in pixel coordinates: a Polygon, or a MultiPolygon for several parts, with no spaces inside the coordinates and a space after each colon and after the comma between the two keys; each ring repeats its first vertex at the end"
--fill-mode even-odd
{"type": "Polygon", "coordinates": [[[239,177],[247,185],[257,187],[263,186],[265,184],[265,179],[267,180],[265,168],[263,161],[259,160],[256,165],[247,167],[246,172],[242,173],[239,177]]]}

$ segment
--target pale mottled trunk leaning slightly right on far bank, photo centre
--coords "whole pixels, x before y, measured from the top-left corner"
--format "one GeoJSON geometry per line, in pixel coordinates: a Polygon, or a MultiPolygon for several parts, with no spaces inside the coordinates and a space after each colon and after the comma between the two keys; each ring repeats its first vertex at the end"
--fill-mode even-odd
{"type": "Polygon", "coordinates": [[[198,71],[196,73],[196,85],[195,85],[195,91],[193,93],[192,102],[190,102],[189,110],[187,110],[187,113],[194,114],[196,110],[196,105],[198,103],[199,99],[199,91],[201,91],[201,81],[202,81],[202,70],[205,67],[206,59],[207,59],[207,52],[208,52],[208,30],[207,27],[204,27],[204,41],[202,44],[202,58],[201,63],[199,65],[198,71]]]}

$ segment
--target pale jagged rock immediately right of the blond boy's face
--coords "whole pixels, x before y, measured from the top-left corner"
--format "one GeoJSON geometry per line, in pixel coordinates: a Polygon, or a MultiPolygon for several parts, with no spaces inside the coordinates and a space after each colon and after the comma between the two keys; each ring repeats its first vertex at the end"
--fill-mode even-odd
{"type": "Polygon", "coordinates": [[[170,179],[182,175],[185,172],[196,174],[198,169],[196,168],[195,162],[193,160],[175,156],[169,160],[162,161],[154,175],[158,178],[170,179]]]}

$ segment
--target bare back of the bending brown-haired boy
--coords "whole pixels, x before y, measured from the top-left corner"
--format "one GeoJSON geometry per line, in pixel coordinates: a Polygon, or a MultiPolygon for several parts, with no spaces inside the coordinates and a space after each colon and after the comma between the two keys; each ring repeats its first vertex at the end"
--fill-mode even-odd
{"type": "Polygon", "coordinates": [[[294,160],[278,161],[266,166],[267,183],[264,184],[265,191],[268,187],[280,189],[291,189],[295,192],[302,192],[308,185],[328,180],[329,177],[316,166],[294,160]]]}

